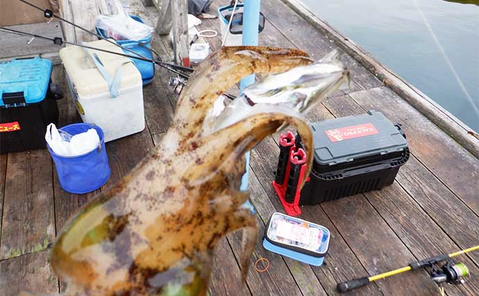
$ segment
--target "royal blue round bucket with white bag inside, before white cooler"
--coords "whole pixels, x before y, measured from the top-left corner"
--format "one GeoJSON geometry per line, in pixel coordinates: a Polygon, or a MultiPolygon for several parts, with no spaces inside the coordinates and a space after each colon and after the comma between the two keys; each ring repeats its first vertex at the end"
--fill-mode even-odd
{"type": "Polygon", "coordinates": [[[100,137],[101,146],[89,153],[74,157],[57,155],[48,146],[51,158],[55,162],[58,180],[62,189],[69,193],[83,194],[99,189],[110,177],[110,166],[106,156],[103,130],[90,123],[74,123],[60,130],[71,134],[80,134],[94,128],[100,137]]]}

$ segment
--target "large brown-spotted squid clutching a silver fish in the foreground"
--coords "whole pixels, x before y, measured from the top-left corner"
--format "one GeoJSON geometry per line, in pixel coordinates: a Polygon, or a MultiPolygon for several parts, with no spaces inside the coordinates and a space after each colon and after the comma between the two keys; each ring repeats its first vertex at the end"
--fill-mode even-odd
{"type": "MultiPolygon", "coordinates": [[[[313,63],[294,49],[224,47],[194,71],[160,145],[106,193],[85,204],[58,234],[50,263],[65,295],[206,295],[214,247],[244,229],[242,273],[258,234],[242,159],[285,124],[312,134],[300,112],[348,79],[337,53],[313,63]],[[274,74],[221,112],[219,95],[252,73],[274,74]]],[[[308,163],[308,172],[311,162],[308,163]]]]}

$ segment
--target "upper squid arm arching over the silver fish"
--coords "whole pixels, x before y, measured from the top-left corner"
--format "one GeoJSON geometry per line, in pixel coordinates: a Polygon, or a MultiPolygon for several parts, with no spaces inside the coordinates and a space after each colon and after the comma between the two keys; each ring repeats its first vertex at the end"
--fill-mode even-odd
{"type": "Polygon", "coordinates": [[[224,47],[196,69],[176,103],[174,128],[180,139],[200,137],[205,116],[218,96],[253,73],[280,73],[312,63],[297,49],[272,47],[224,47]]]}

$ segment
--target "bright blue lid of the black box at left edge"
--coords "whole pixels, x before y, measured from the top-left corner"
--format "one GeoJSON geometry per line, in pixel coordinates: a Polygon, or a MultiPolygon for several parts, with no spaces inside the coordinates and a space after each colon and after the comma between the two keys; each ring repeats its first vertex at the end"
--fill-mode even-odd
{"type": "Polygon", "coordinates": [[[38,103],[45,98],[51,76],[51,60],[15,59],[0,62],[0,107],[8,94],[22,94],[24,103],[38,103]]]}

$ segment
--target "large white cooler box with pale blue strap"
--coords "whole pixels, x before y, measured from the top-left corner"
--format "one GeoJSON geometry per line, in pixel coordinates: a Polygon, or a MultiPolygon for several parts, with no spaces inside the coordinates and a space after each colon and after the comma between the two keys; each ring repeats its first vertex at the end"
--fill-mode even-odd
{"type": "MultiPolygon", "coordinates": [[[[105,40],[85,44],[123,53],[105,40]]],[[[61,49],[60,58],[81,119],[99,125],[106,142],[144,130],[142,76],[131,60],[78,46],[61,49]]]]}

